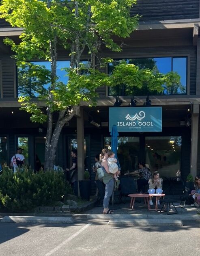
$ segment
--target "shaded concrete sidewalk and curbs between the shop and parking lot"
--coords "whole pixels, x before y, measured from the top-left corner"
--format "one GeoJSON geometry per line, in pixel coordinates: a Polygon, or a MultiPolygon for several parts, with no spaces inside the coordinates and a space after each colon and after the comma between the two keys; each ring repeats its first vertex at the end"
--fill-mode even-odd
{"type": "MultiPolygon", "coordinates": [[[[170,196],[168,196],[169,198],[170,196]]],[[[2,222],[34,222],[34,223],[73,223],[75,220],[85,219],[88,221],[108,220],[109,225],[143,225],[143,226],[183,226],[183,221],[200,221],[200,207],[195,208],[190,205],[185,205],[185,208],[180,208],[180,199],[178,197],[170,197],[177,202],[174,202],[177,214],[166,215],[166,213],[160,213],[162,204],[158,206],[158,211],[148,210],[147,204],[144,205],[143,199],[141,202],[136,202],[134,209],[131,210],[130,198],[126,198],[125,204],[110,205],[110,209],[114,210],[113,214],[102,214],[103,205],[99,204],[94,206],[94,200],[87,202],[91,204],[91,209],[86,210],[84,213],[65,213],[65,214],[51,214],[51,213],[30,213],[30,214],[4,214],[2,222]],[[199,214],[198,214],[199,212],[199,214]],[[9,215],[9,216],[8,216],[9,215]],[[20,215],[20,216],[19,216],[20,215]],[[30,218],[30,217],[33,217],[30,218]],[[48,217],[48,218],[47,218],[48,217]],[[71,218],[71,219],[70,219],[71,218]],[[48,222],[49,221],[49,222],[48,222]],[[68,222],[69,221],[69,222],[68,222]]],[[[83,207],[85,207],[83,205],[83,207]]],[[[155,204],[151,206],[155,208],[155,204]]],[[[172,207],[173,210],[173,207],[172,207]]]]}

